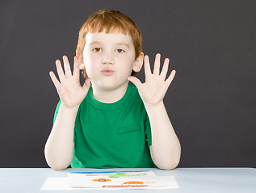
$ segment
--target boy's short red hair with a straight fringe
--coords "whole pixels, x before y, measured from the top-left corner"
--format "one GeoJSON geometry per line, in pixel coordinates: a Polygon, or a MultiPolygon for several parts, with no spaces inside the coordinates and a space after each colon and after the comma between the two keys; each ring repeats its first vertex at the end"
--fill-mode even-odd
{"type": "MultiPolygon", "coordinates": [[[[97,13],[91,15],[85,23],[83,23],[78,36],[77,51],[81,54],[86,44],[87,33],[102,32],[113,33],[120,32],[124,35],[130,35],[132,37],[132,43],[135,50],[135,59],[142,52],[142,36],[140,28],[136,23],[132,21],[127,15],[122,14],[118,10],[99,10],[97,13]]],[[[134,76],[136,72],[132,71],[134,76]]],[[[83,71],[83,75],[86,78],[86,70],[83,71]]]]}

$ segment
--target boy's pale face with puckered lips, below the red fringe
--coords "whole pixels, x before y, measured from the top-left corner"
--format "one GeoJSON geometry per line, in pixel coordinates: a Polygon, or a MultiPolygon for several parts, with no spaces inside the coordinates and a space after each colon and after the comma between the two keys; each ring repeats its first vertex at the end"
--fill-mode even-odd
{"type": "Polygon", "coordinates": [[[128,84],[132,69],[141,70],[143,60],[135,60],[130,35],[122,33],[88,33],[83,51],[83,61],[93,87],[113,90],[128,84]],[[138,66],[141,65],[139,68],[138,66]]]}

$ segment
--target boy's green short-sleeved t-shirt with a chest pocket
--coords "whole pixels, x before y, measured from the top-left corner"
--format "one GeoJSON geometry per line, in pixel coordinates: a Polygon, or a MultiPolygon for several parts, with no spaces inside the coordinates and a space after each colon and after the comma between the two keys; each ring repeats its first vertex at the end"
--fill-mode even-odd
{"type": "Polygon", "coordinates": [[[115,103],[95,100],[90,87],[78,109],[73,142],[73,168],[154,167],[149,117],[132,84],[115,103]]]}

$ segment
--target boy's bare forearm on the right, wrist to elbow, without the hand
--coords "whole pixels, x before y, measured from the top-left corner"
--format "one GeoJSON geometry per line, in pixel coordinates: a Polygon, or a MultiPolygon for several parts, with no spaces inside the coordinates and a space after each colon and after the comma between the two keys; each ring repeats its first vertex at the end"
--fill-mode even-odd
{"type": "Polygon", "coordinates": [[[147,105],[152,133],[150,153],[153,162],[160,169],[171,170],[178,166],[181,147],[174,132],[163,102],[160,105],[147,105]]]}

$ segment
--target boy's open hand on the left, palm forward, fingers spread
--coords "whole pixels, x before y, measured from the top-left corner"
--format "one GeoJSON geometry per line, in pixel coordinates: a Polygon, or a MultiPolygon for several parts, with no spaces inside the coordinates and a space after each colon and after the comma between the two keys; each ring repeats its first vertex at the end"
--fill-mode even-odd
{"type": "Polygon", "coordinates": [[[53,84],[57,88],[57,92],[61,99],[61,105],[67,109],[78,107],[86,97],[90,88],[90,78],[87,78],[83,86],[80,84],[80,69],[78,57],[73,58],[73,75],[70,69],[69,60],[67,56],[63,56],[63,63],[65,73],[61,67],[61,61],[56,61],[57,73],[60,81],[57,80],[54,72],[50,72],[53,84]]]}

